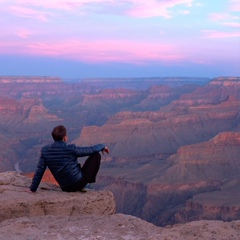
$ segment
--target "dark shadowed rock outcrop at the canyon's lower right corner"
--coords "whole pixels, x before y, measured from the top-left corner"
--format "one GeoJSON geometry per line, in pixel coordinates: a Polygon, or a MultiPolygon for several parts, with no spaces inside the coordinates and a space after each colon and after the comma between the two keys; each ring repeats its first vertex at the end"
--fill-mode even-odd
{"type": "Polygon", "coordinates": [[[218,191],[195,195],[175,213],[177,222],[240,219],[240,176],[225,179],[218,191]]]}

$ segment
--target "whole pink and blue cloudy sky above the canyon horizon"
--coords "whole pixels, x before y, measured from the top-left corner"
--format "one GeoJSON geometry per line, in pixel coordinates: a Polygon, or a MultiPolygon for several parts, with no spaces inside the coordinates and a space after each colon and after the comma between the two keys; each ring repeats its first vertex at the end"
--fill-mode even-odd
{"type": "Polygon", "coordinates": [[[240,76],[240,2],[0,0],[0,75],[240,76]]]}

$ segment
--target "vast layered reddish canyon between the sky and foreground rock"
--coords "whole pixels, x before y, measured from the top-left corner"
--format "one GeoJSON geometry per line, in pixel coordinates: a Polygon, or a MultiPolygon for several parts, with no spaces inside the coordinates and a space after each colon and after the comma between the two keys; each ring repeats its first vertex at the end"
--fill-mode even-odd
{"type": "Polygon", "coordinates": [[[110,148],[95,188],[117,212],[158,226],[240,219],[239,77],[2,76],[0,172],[34,172],[58,124],[72,143],[110,148]]]}

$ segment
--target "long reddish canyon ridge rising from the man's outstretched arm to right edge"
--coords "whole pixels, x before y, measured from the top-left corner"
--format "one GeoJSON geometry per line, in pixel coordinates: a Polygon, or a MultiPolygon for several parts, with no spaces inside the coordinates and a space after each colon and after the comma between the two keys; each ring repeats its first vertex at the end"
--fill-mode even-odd
{"type": "MultiPolygon", "coordinates": [[[[235,82],[238,86],[240,80],[235,82]]],[[[75,143],[93,144],[99,139],[108,144],[114,158],[120,159],[170,155],[181,146],[204,142],[236,128],[240,121],[239,95],[235,85],[209,84],[181,95],[159,111],[121,111],[102,126],[86,126],[75,143]]]]}

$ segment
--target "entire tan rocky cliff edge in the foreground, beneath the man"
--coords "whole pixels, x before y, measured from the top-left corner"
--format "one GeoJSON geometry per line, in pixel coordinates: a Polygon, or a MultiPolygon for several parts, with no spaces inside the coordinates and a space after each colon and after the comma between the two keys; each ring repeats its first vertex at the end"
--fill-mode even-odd
{"type": "Polygon", "coordinates": [[[110,191],[64,193],[42,183],[33,194],[26,191],[30,182],[16,172],[0,173],[0,239],[240,239],[240,220],[160,228],[115,213],[110,191]]]}

